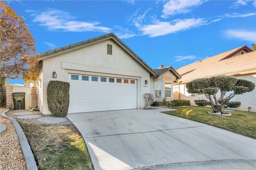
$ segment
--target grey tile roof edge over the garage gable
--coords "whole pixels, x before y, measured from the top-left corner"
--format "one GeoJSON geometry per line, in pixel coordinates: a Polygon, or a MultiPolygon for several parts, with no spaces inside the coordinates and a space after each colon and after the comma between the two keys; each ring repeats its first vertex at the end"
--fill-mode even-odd
{"type": "Polygon", "coordinates": [[[151,67],[145,63],[137,54],[135,54],[132,49],[130,49],[126,44],[123,43],[123,41],[121,41],[121,39],[119,39],[114,33],[108,33],[106,35],[103,35],[103,36],[99,36],[99,37],[95,37],[95,38],[91,38],[91,39],[87,39],[85,41],[81,41],[79,43],[75,43],[75,44],[70,44],[68,46],[63,46],[63,47],[60,47],[60,48],[55,48],[53,50],[49,50],[47,52],[44,52],[44,53],[40,53],[39,54],[39,60],[44,60],[44,58],[50,58],[50,57],[53,57],[53,56],[57,56],[59,55],[60,53],[65,53],[65,50],[66,52],[68,52],[68,50],[75,50],[77,48],[82,48],[86,45],[90,45],[91,43],[97,43],[97,41],[100,41],[100,40],[104,40],[104,39],[111,39],[113,38],[114,40],[116,40],[119,44],[121,44],[125,49],[127,49],[133,56],[134,58],[138,59],[143,66],[146,67],[146,69],[148,69],[151,74],[155,75],[155,72],[153,71],[153,69],[151,69],[151,67]]]}

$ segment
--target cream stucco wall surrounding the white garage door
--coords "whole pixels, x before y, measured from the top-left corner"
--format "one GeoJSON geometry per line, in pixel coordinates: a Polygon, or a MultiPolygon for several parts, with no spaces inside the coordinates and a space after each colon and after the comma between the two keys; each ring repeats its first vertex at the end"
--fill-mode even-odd
{"type": "Polygon", "coordinates": [[[102,41],[43,60],[43,71],[38,80],[38,105],[43,114],[51,114],[47,106],[47,85],[50,80],[68,82],[68,74],[103,75],[138,80],[138,108],[145,107],[143,94],[150,92],[150,73],[119,47],[113,40],[102,41]],[[107,44],[113,45],[113,54],[107,54],[107,44]],[[52,73],[57,78],[52,78],[52,73]]]}

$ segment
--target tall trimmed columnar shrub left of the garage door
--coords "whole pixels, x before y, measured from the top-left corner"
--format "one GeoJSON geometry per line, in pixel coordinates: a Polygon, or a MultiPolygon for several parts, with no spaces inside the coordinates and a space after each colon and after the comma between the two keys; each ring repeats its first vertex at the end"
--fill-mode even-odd
{"type": "Polygon", "coordinates": [[[47,86],[47,104],[53,116],[67,116],[69,107],[69,83],[50,81],[47,86]]]}

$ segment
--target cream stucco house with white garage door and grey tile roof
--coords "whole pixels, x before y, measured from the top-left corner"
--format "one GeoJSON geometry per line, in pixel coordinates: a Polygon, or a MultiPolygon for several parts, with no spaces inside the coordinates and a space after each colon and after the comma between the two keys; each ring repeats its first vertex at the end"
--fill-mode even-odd
{"type": "Polygon", "coordinates": [[[172,67],[151,69],[114,33],[41,53],[39,61],[37,105],[43,114],[50,114],[51,80],[70,83],[68,113],[81,113],[143,108],[146,93],[171,99],[173,81],[181,78],[172,67]]]}

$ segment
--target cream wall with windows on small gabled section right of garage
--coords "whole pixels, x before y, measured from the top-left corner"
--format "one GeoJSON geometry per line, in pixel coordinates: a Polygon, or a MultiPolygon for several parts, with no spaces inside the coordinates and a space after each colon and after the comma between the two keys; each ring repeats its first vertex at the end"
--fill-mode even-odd
{"type": "MultiPolygon", "coordinates": [[[[150,79],[150,93],[154,95],[154,98],[156,101],[162,101],[163,98],[165,97],[165,83],[168,81],[166,79],[166,77],[170,78],[169,82],[171,84],[168,84],[168,87],[173,89],[173,81],[175,81],[177,79],[177,77],[171,71],[165,72],[164,74],[161,75],[161,77],[150,79]],[[156,98],[156,96],[155,96],[155,81],[162,82],[161,98],[156,98]]],[[[171,101],[174,99],[173,98],[173,90],[171,90],[171,97],[166,97],[165,99],[166,99],[166,101],[171,101]]]]}

